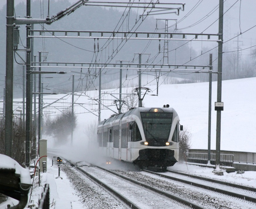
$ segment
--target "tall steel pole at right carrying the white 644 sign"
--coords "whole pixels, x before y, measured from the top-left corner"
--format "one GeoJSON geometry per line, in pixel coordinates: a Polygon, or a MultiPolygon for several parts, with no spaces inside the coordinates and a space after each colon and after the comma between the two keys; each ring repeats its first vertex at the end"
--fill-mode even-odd
{"type": "MultiPolygon", "coordinates": [[[[218,42],[218,80],[217,80],[217,102],[221,102],[222,85],[222,45],[223,45],[223,0],[219,1],[219,41],[218,42]]],[[[217,110],[216,122],[216,170],[220,170],[221,154],[221,110],[217,110]]]]}

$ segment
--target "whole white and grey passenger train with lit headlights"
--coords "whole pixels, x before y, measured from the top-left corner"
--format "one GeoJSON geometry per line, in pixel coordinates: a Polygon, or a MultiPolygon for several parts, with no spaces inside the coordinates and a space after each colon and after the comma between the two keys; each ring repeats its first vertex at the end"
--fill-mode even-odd
{"type": "Polygon", "coordinates": [[[166,169],[179,159],[179,117],[173,108],[137,107],[101,121],[98,145],[106,157],[166,169]]]}

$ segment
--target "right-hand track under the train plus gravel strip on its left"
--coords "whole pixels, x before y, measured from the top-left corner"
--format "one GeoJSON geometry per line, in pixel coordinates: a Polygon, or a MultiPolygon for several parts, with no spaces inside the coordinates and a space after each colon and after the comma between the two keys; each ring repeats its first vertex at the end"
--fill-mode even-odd
{"type": "Polygon", "coordinates": [[[162,191],[173,193],[205,208],[256,208],[255,188],[181,173],[116,171],[162,191]],[[147,179],[145,181],[145,179],[147,179]]]}

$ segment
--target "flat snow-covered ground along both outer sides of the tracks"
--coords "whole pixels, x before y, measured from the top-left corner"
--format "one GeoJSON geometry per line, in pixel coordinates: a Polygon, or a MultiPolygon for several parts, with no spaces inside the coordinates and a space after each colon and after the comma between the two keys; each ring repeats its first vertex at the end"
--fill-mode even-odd
{"type": "MultiPolygon", "coordinates": [[[[38,187],[38,177],[35,177],[31,200],[30,200],[30,203],[28,203],[28,205],[37,206],[38,199],[40,198],[41,193],[43,191],[43,186],[45,184],[49,184],[51,208],[55,208],[55,209],[89,208],[89,207],[86,207],[85,204],[83,203],[83,202],[89,201],[88,198],[84,199],[84,196],[88,197],[88,194],[87,195],[84,194],[84,196],[81,196],[79,191],[77,191],[74,188],[74,186],[70,183],[71,181],[69,179],[70,177],[69,178],[67,177],[62,167],[60,170],[60,177],[62,177],[62,179],[56,178],[58,177],[58,167],[56,165],[56,162],[54,162],[54,165],[52,166],[51,157],[52,156],[48,157],[47,172],[41,173],[40,187],[38,187]]],[[[118,166],[119,166],[119,169],[127,169],[127,167],[120,167],[120,165],[118,166]]],[[[186,165],[185,163],[182,163],[182,164],[177,163],[173,167],[169,167],[168,169],[174,170],[174,171],[183,171],[186,173],[201,175],[209,178],[215,178],[215,179],[228,181],[236,184],[256,187],[256,172],[245,172],[244,174],[224,172],[224,176],[217,176],[213,174],[212,172],[213,169],[211,168],[199,167],[195,165],[186,165]]],[[[93,188],[95,188],[95,186],[93,188]]],[[[97,193],[101,193],[101,192],[102,191],[99,190],[97,193]]],[[[108,195],[105,194],[105,196],[106,196],[105,198],[109,198],[108,195]]],[[[17,201],[9,200],[8,203],[17,204],[17,201]]],[[[0,209],[5,209],[5,208],[7,207],[4,203],[0,204],[0,209]]],[[[116,208],[120,208],[120,207],[116,207],[116,208]]]]}

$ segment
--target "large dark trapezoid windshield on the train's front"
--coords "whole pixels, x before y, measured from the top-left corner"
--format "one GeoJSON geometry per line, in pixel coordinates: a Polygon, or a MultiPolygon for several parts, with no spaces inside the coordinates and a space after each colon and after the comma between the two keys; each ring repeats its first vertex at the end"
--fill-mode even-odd
{"type": "Polygon", "coordinates": [[[140,114],[149,146],[164,146],[172,126],[172,112],[141,112],[140,114]]]}

